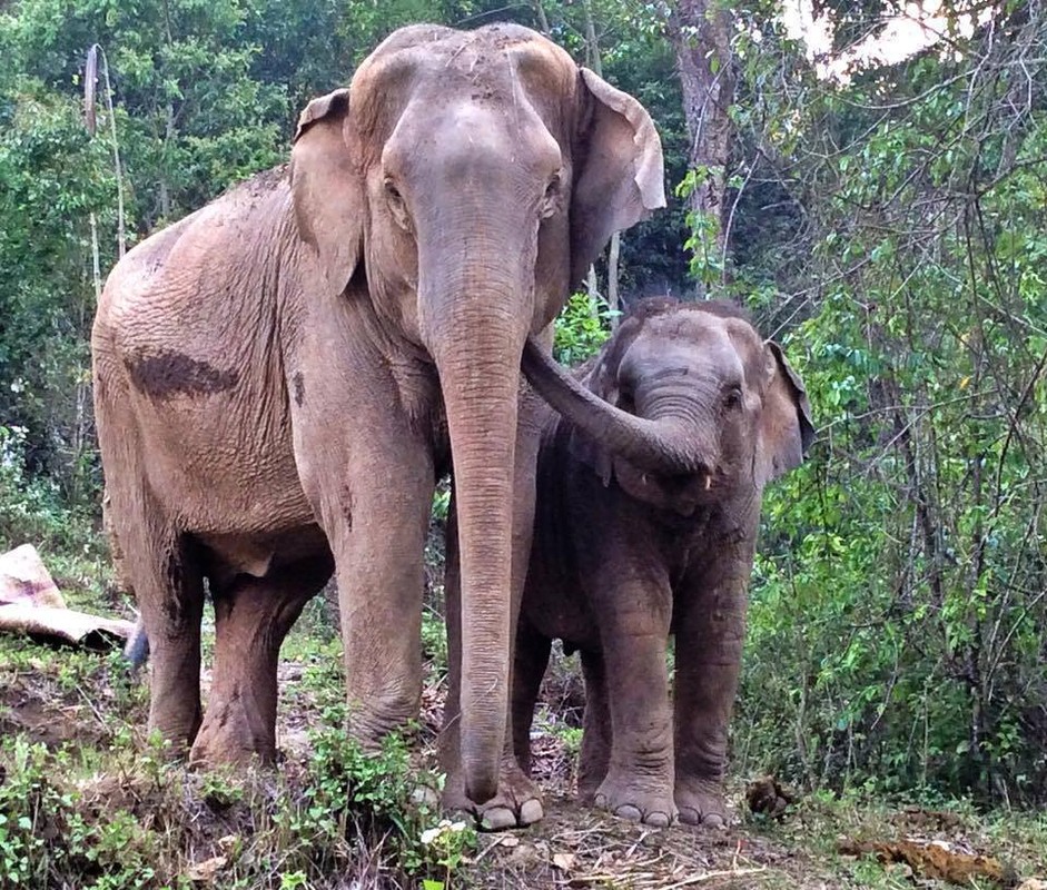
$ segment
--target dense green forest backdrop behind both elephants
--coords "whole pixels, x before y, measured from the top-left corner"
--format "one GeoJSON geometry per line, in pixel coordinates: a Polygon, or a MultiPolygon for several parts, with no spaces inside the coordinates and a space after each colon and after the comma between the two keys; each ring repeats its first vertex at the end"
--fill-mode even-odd
{"type": "Polygon", "coordinates": [[[600,67],[665,147],[670,207],[572,300],[561,359],[619,301],[725,297],[809,388],[818,441],[766,500],[735,768],[1047,801],[1040,3],[9,3],[0,552],[105,561],[88,339],[120,240],[285,160],[298,111],[394,28],[494,20],[600,67]],[[916,19],[926,46],[889,56],[916,19]]]}

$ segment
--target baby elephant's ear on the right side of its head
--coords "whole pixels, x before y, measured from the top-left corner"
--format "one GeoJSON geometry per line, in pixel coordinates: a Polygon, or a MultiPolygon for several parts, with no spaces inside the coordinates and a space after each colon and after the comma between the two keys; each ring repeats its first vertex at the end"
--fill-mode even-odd
{"type": "Polygon", "coordinates": [[[757,444],[757,482],[762,486],[803,462],[814,439],[811,405],[799,375],[773,340],[763,345],[767,386],[757,444]]]}

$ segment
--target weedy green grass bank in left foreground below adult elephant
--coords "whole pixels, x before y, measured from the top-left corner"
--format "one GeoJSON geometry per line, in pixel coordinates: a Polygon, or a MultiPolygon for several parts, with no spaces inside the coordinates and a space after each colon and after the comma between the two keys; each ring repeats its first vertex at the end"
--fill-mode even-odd
{"type": "Polygon", "coordinates": [[[93,771],[99,750],[0,744],[0,888],[443,886],[475,840],[412,800],[437,779],[395,736],[364,752],[325,725],[307,761],[237,773],[187,772],[156,740],[129,741],[93,771]]]}

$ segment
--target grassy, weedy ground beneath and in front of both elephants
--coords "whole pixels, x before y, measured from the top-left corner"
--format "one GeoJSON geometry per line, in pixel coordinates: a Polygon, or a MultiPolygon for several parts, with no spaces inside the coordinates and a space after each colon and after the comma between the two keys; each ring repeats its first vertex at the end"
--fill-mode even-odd
{"type": "MultiPolygon", "coordinates": [[[[106,572],[96,573],[90,560],[78,555],[52,565],[63,586],[80,591],[82,607],[103,611],[111,602],[106,572]]],[[[510,841],[477,838],[470,825],[413,800],[419,785],[439,785],[427,769],[446,670],[437,603],[427,601],[423,624],[429,678],[423,730],[409,744],[392,739],[378,752],[360,751],[343,730],[342,643],[325,604],[319,597],[310,604],[281,653],[284,759],[275,770],[187,771],[146,735],[146,684],[127,673],[119,653],[0,637],[0,890],[209,883],[458,890],[570,882],[654,890],[695,880],[747,890],[888,890],[912,886],[905,868],[841,856],[839,840],[912,835],[997,857],[1023,878],[1047,877],[1047,818],[984,813],[930,792],[912,800],[886,799],[875,788],[813,793],[780,822],[743,814],[723,832],[653,831],[582,808],[567,792],[583,684],[577,659],[563,659],[559,649],[533,746],[547,818],[510,841]],[[921,823],[925,810],[947,810],[955,821],[947,829],[921,823]]],[[[741,813],[741,780],[731,788],[741,813]]]]}

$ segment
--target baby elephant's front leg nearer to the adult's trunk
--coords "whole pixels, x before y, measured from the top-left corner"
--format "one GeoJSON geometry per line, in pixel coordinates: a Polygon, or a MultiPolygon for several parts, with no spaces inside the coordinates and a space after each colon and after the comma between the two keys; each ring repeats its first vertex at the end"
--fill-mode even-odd
{"type": "Polygon", "coordinates": [[[669,581],[640,560],[624,570],[621,561],[593,568],[612,728],[608,772],[593,802],[624,819],[668,825],[676,814],[665,670],[669,581]]]}

